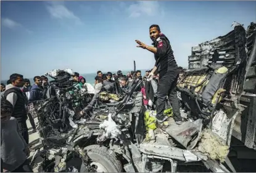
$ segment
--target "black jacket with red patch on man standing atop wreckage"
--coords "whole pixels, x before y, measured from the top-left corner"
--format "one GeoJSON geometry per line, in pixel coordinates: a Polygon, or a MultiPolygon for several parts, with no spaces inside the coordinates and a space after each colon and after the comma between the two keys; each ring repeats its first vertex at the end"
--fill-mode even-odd
{"type": "Polygon", "coordinates": [[[155,66],[160,76],[163,76],[167,71],[176,71],[178,65],[175,61],[173,50],[171,49],[170,41],[168,38],[161,34],[155,42],[152,43],[154,47],[157,47],[157,53],[155,54],[155,66]]]}

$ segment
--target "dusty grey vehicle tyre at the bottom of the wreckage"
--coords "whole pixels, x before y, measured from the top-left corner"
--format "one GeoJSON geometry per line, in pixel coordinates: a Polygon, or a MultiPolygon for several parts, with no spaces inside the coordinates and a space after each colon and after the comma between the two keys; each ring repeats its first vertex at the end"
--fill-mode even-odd
{"type": "MultiPolygon", "coordinates": [[[[92,163],[95,163],[96,166],[99,165],[103,168],[97,170],[97,172],[101,170],[105,170],[101,172],[123,172],[121,162],[117,159],[115,153],[108,150],[107,147],[101,147],[100,145],[89,145],[88,147],[85,147],[84,150],[87,152],[87,155],[91,159],[92,163]]],[[[80,172],[86,172],[84,166],[81,167],[80,172]]]]}

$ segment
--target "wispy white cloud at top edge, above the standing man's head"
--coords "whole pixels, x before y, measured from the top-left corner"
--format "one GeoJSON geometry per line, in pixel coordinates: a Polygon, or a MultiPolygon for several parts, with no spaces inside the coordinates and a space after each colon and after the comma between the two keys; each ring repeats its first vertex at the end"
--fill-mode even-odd
{"type": "Polygon", "coordinates": [[[128,7],[130,17],[139,17],[141,15],[155,16],[163,15],[164,11],[160,8],[157,1],[137,1],[128,7]]]}

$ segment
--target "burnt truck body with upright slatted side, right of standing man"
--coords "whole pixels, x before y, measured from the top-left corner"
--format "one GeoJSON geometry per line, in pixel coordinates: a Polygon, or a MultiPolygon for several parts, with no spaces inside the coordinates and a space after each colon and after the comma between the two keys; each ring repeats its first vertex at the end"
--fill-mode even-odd
{"type": "MultiPolygon", "coordinates": [[[[225,36],[192,47],[178,91],[189,119],[204,118],[233,155],[256,159],[256,23],[247,30],[236,22],[233,26],[225,36]],[[234,137],[239,144],[232,143],[234,137]]],[[[236,172],[228,157],[225,162],[236,172]]]]}

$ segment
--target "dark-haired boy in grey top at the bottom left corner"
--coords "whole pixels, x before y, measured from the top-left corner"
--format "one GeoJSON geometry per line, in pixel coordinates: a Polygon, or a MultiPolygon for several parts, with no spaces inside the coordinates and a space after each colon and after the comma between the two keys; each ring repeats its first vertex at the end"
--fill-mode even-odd
{"type": "Polygon", "coordinates": [[[1,159],[5,172],[33,172],[27,161],[30,149],[19,133],[17,120],[11,117],[12,103],[1,99],[1,159]]]}

